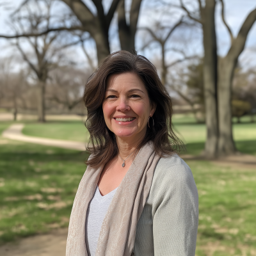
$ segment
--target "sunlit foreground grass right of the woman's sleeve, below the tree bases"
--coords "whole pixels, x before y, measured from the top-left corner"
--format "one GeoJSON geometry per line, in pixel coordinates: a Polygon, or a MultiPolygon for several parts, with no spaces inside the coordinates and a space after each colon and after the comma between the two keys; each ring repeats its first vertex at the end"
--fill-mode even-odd
{"type": "Polygon", "coordinates": [[[199,194],[196,255],[255,255],[255,170],[187,163],[199,194]]]}

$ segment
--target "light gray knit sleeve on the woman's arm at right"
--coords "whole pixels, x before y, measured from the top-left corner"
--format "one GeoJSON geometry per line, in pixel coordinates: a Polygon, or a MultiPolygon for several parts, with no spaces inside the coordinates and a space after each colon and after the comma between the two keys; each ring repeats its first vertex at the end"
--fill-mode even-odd
{"type": "MultiPolygon", "coordinates": [[[[189,166],[161,172],[152,205],[155,256],[195,256],[198,193],[189,166]]],[[[153,184],[152,184],[153,185],[153,184]]]]}

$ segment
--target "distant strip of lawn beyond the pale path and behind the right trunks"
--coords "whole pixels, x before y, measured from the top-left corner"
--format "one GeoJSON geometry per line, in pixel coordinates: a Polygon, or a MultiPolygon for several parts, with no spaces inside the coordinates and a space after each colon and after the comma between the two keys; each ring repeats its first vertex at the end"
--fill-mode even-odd
{"type": "MultiPolygon", "coordinates": [[[[256,123],[251,124],[248,116],[241,118],[241,124],[234,124],[236,147],[243,153],[256,156],[256,123]]],[[[234,119],[235,120],[235,119],[234,119]]],[[[191,115],[174,115],[173,127],[179,138],[186,144],[187,152],[197,155],[204,149],[205,124],[196,124],[191,115]]],[[[89,133],[83,122],[60,121],[45,124],[27,123],[22,131],[29,136],[53,138],[59,140],[86,141],[89,133]]]]}

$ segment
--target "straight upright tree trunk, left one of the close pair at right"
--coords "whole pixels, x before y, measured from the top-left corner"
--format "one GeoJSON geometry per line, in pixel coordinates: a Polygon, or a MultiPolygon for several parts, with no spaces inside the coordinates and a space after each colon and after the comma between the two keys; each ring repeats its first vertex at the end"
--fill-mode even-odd
{"type": "Polygon", "coordinates": [[[204,33],[204,97],[207,138],[205,157],[217,157],[218,111],[217,111],[217,44],[215,31],[215,0],[206,0],[202,10],[204,33]]]}

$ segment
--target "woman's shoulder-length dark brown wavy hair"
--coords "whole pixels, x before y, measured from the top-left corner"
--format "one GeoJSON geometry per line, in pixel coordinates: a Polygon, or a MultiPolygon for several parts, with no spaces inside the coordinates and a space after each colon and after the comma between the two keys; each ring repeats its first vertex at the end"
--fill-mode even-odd
{"type": "Polygon", "coordinates": [[[113,52],[89,77],[84,90],[84,104],[88,111],[85,126],[90,132],[87,150],[93,157],[87,164],[98,168],[108,163],[118,154],[115,134],[111,132],[104,120],[102,102],[104,100],[106,81],[110,74],[132,72],[137,74],[148,92],[149,100],[156,104],[156,111],[150,118],[145,138],[137,150],[152,141],[159,156],[170,156],[183,147],[172,129],[172,100],[157,75],[156,67],[144,56],[127,51],[113,52]]]}

